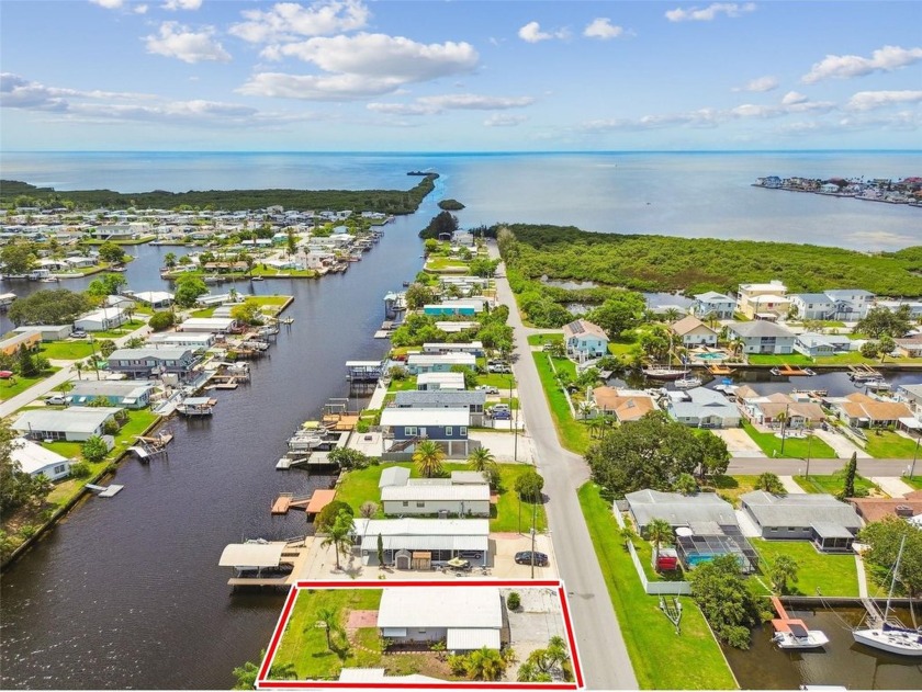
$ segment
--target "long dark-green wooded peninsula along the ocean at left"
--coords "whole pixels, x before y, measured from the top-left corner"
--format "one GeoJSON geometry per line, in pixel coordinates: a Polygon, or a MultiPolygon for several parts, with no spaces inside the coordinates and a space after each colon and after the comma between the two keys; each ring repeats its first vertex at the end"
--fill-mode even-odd
{"type": "Polygon", "coordinates": [[[409,190],[190,190],[189,192],[121,193],[112,190],[56,191],[18,180],[0,180],[0,206],[75,209],[248,209],[282,206],[286,209],[362,209],[383,214],[413,214],[435,189],[438,173],[424,173],[409,190]]]}

